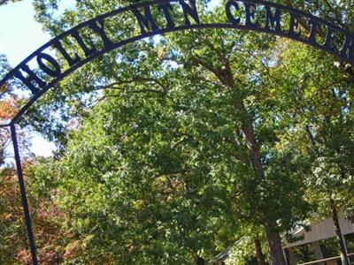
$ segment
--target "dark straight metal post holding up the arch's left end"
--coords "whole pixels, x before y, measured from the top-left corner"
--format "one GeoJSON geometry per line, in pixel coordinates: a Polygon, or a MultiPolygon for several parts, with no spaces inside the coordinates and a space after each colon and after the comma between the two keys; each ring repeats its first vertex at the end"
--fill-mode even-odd
{"type": "Polygon", "coordinates": [[[16,127],[14,124],[11,125],[11,133],[12,133],[12,145],[13,145],[13,150],[14,150],[15,160],[16,160],[17,174],[19,176],[19,190],[21,193],[21,201],[22,201],[22,206],[23,206],[23,211],[25,214],[25,221],[26,221],[26,226],[27,226],[29,247],[31,249],[33,264],[37,265],[38,260],[37,260],[37,254],[36,254],[36,249],[35,249],[35,238],[34,238],[34,235],[32,232],[31,216],[29,215],[25,181],[23,179],[21,159],[19,157],[19,144],[17,141],[16,127]]]}

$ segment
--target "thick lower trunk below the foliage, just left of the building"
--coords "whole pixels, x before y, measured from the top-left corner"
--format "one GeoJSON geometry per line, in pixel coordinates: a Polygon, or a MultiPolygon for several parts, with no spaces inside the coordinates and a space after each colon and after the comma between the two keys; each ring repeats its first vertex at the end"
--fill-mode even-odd
{"type": "Polygon", "coordinates": [[[272,265],[287,265],[282,251],[281,237],[278,231],[275,231],[276,224],[266,224],[266,241],[268,242],[270,260],[272,265]]]}

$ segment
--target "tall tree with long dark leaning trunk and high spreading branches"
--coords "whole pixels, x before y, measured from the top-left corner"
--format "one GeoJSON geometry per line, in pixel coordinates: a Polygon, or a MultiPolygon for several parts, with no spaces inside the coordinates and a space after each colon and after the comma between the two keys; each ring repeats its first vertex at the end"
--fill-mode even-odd
{"type": "MultiPolygon", "coordinates": [[[[65,12],[60,20],[52,19],[49,16],[50,7],[41,2],[37,2],[37,9],[39,19],[44,27],[49,29],[52,34],[58,34],[63,31],[65,26],[76,24],[76,18],[89,18],[105,9],[111,10],[116,4],[116,2],[102,4],[99,1],[78,4],[76,11],[65,12]],[[74,13],[80,14],[80,16],[73,16],[74,13]]],[[[203,9],[202,4],[204,3],[201,2],[198,7],[203,10],[204,19],[210,19],[211,15],[203,9]]],[[[217,11],[216,14],[221,16],[221,11],[217,11]]],[[[114,28],[124,30],[131,23],[131,19],[125,18],[115,21],[114,28]]],[[[69,46],[68,43],[65,45],[69,46]]],[[[92,135],[107,137],[111,135],[107,134],[106,131],[108,131],[115,135],[116,138],[111,140],[119,148],[122,145],[120,138],[127,140],[129,145],[125,149],[127,153],[124,155],[127,156],[124,156],[124,159],[127,159],[128,163],[127,168],[124,168],[126,171],[121,172],[121,174],[127,174],[129,176],[127,179],[130,180],[137,178],[136,176],[140,176],[142,173],[145,175],[138,179],[148,178],[149,174],[152,174],[151,172],[159,172],[159,170],[162,170],[163,176],[168,175],[167,173],[178,172],[178,176],[182,175],[187,179],[187,176],[191,176],[191,179],[197,179],[198,181],[192,183],[193,185],[204,184],[208,187],[206,189],[203,186],[197,186],[192,190],[211,190],[213,194],[215,187],[211,183],[226,176],[227,182],[231,182],[232,185],[222,186],[222,192],[218,193],[218,197],[227,194],[227,200],[235,199],[235,203],[229,202],[233,205],[230,216],[233,216],[237,222],[243,220],[243,222],[250,222],[254,225],[262,225],[266,231],[272,262],[284,264],[280,232],[289,230],[306,212],[304,211],[304,208],[306,208],[304,201],[301,200],[301,195],[304,193],[301,188],[303,179],[299,177],[299,173],[303,173],[308,164],[301,163],[301,166],[298,166],[298,156],[292,149],[294,145],[281,147],[280,139],[283,136],[281,131],[284,130],[289,133],[293,128],[289,119],[284,118],[280,122],[278,115],[273,112],[272,104],[274,102],[266,101],[270,94],[267,94],[269,87],[265,86],[264,76],[269,68],[278,70],[275,80],[280,81],[280,83],[283,82],[281,84],[284,87],[293,85],[292,79],[284,83],[282,72],[279,71],[281,67],[272,65],[273,61],[277,59],[273,54],[274,52],[276,54],[279,47],[281,47],[281,43],[273,37],[242,34],[227,30],[208,31],[208,34],[194,31],[190,31],[188,34],[167,34],[159,42],[150,40],[149,42],[135,43],[119,50],[121,53],[119,57],[118,52],[112,52],[110,56],[100,58],[101,61],[96,60],[93,64],[82,68],[80,72],[75,72],[72,78],[67,79],[58,87],[60,91],[58,94],[48,94],[42,101],[45,103],[56,99],[57,102],[49,105],[49,107],[45,107],[44,104],[40,105],[40,108],[33,110],[32,114],[42,112],[42,115],[32,115],[35,119],[27,120],[27,123],[32,123],[35,128],[51,134],[52,137],[54,136],[53,138],[56,137],[62,143],[62,149],[67,148],[67,151],[71,154],[70,152],[73,152],[75,148],[66,146],[67,130],[64,123],[68,120],[70,112],[81,110],[76,112],[76,117],[79,124],[82,125],[85,124],[84,120],[92,118],[92,115],[104,117],[104,120],[108,118],[111,124],[99,127],[104,133],[92,135]],[[110,67],[107,67],[107,65],[110,65],[110,67]],[[152,72],[151,69],[153,69],[152,72]],[[196,76],[198,79],[196,79],[196,76]],[[190,87],[191,91],[189,93],[186,92],[186,87],[190,87]],[[103,88],[106,89],[104,92],[96,93],[103,88]],[[132,95],[128,90],[129,88],[132,90],[132,95]],[[144,98],[135,99],[136,95],[142,92],[149,99],[151,95],[159,95],[158,98],[155,98],[156,103],[148,100],[145,102],[144,98]],[[91,97],[83,97],[84,93],[89,93],[91,97]],[[122,96],[126,96],[128,102],[125,102],[122,96]],[[205,97],[204,100],[201,100],[202,96],[205,97]],[[67,98],[70,98],[71,102],[66,103],[65,99],[67,98]],[[136,100],[136,105],[132,106],[129,100],[136,100]],[[106,103],[111,101],[113,102],[112,105],[106,103]],[[95,105],[96,102],[103,102],[104,108],[107,109],[101,110],[97,107],[97,110],[96,108],[89,110],[88,105],[95,105]],[[71,108],[67,108],[68,105],[71,108]],[[155,105],[159,107],[156,108],[155,105]],[[138,108],[140,106],[147,108],[144,111],[150,113],[151,117],[156,118],[151,119],[150,116],[144,115],[145,113],[142,113],[138,108]],[[154,106],[154,108],[151,106],[154,106]],[[151,108],[154,110],[150,110],[151,108]],[[61,114],[64,114],[61,116],[62,119],[59,121],[55,118],[48,119],[46,114],[52,110],[62,111],[61,114]],[[109,115],[111,111],[108,110],[120,110],[121,113],[111,116],[109,115]],[[135,115],[135,118],[141,118],[131,121],[130,117],[126,117],[127,113],[130,113],[129,111],[135,115]],[[175,120],[173,124],[165,121],[161,122],[164,126],[158,127],[159,131],[150,128],[150,124],[157,122],[157,118],[163,117],[165,112],[170,113],[171,116],[180,117],[180,119],[175,120]],[[127,125],[116,124],[114,120],[135,125],[135,131],[127,128],[127,125]],[[47,125],[44,130],[41,128],[43,122],[47,125]],[[173,126],[177,127],[174,128],[173,126]],[[131,135],[114,134],[114,130],[127,131],[131,135]],[[147,130],[147,132],[145,133],[144,130],[147,130]],[[177,131],[177,133],[174,133],[174,131],[177,131]],[[170,133],[167,135],[170,138],[163,135],[164,132],[170,133]],[[156,138],[157,135],[160,138],[156,138]],[[150,140],[153,141],[150,142],[150,140]],[[152,153],[150,155],[150,148],[142,148],[142,144],[147,146],[150,144],[150,148],[156,149],[156,154],[152,153]],[[174,145],[177,145],[176,148],[178,149],[173,148],[174,145]],[[183,152],[179,148],[184,148],[183,152]],[[177,153],[171,152],[171,149],[177,153]],[[218,154],[217,151],[220,155],[215,154],[218,154]],[[138,157],[136,157],[136,154],[138,154],[138,157]],[[173,155],[176,155],[176,157],[173,155]],[[196,155],[196,158],[193,155],[196,155]],[[227,155],[230,155],[230,157],[227,155]],[[189,158],[190,162],[186,157],[189,158]],[[136,162],[135,159],[137,159],[136,162]],[[233,160],[230,161],[231,159],[233,160]],[[195,164],[189,164],[193,162],[195,164]],[[146,164],[149,165],[147,171],[142,166],[146,164]],[[212,170],[216,168],[216,170],[213,171],[214,175],[209,176],[211,168],[212,170]],[[231,180],[233,178],[234,180],[231,180]],[[225,190],[227,193],[225,193],[225,190]]],[[[333,62],[333,60],[327,59],[326,62],[333,62]]],[[[173,120],[173,117],[169,118],[173,120]]],[[[91,126],[96,124],[100,125],[95,121],[91,126]]],[[[88,126],[84,126],[84,129],[89,131],[88,126]]],[[[84,132],[81,132],[81,134],[85,135],[84,132]]],[[[83,140],[88,138],[89,135],[83,140]]],[[[83,144],[83,140],[80,140],[79,142],[83,144]]],[[[123,141],[123,144],[127,143],[123,141]]],[[[89,144],[95,147],[98,143],[89,142],[89,144]]],[[[108,142],[104,142],[104,145],[110,147],[108,142]]],[[[80,149],[76,148],[76,150],[80,149]]],[[[104,149],[104,146],[99,146],[97,149],[104,149]]],[[[112,152],[111,149],[110,152],[112,152]]],[[[63,157],[66,156],[63,155],[63,157]]],[[[79,170],[79,172],[84,170],[88,179],[95,177],[93,176],[95,170],[89,167],[87,163],[96,161],[96,155],[93,156],[95,158],[93,160],[87,160],[87,157],[83,154],[78,158],[80,159],[73,160],[75,163],[72,163],[70,159],[69,161],[64,160],[64,168],[66,162],[67,165],[70,165],[69,168],[73,169],[73,172],[65,171],[64,176],[60,172],[58,173],[58,176],[73,178],[75,185],[69,186],[70,189],[81,186],[81,181],[76,179],[78,174],[75,174],[75,170],[79,170]],[[82,167],[78,167],[77,165],[81,163],[82,167]],[[88,168],[89,171],[85,168],[88,168]]],[[[101,157],[101,160],[104,159],[101,157]]],[[[105,166],[104,163],[106,162],[103,161],[102,166],[105,166]]],[[[104,174],[109,171],[98,172],[96,177],[103,178],[104,174]]],[[[69,179],[67,181],[70,183],[69,179]]],[[[135,183],[133,182],[133,184],[135,183]]],[[[139,189],[137,188],[139,193],[142,193],[144,189],[151,189],[151,183],[148,182],[146,186],[142,186],[142,184],[135,184],[139,187],[139,189]]],[[[65,184],[61,185],[65,187],[65,184]]],[[[91,185],[92,189],[96,191],[96,186],[91,185]]],[[[71,191],[70,189],[66,192],[71,191]]],[[[151,193],[153,192],[158,193],[156,190],[151,191],[151,193]]],[[[78,193],[82,196],[81,200],[86,198],[87,194],[81,194],[79,191],[78,193]]],[[[88,194],[90,194],[89,191],[88,194]]],[[[98,196],[98,198],[104,198],[102,193],[99,194],[101,196],[98,196]]],[[[211,194],[206,194],[208,195],[206,198],[210,198],[211,194]]],[[[190,193],[189,195],[192,201],[198,199],[196,193],[190,193]]],[[[131,200],[132,197],[130,196],[134,198],[135,194],[129,194],[126,198],[127,201],[131,200]]],[[[181,194],[177,193],[176,197],[181,198],[181,194]]],[[[94,216],[98,218],[100,216],[95,210],[99,208],[97,205],[101,205],[96,204],[99,200],[94,202],[94,216]]],[[[158,201],[154,201],[153,205],[155,203],[158,203],[158,201]]],[[[65,205],[65,201],[63,201],[63,205],[65,205]]],[[[75,210],[80,212],[81,209],[75,210]]],[[[80,212],[80,214],[84,215],[85,210],[88,209],[82,209],[83,212],[80,212]]],[[[189,218],[191,217],[189,216],[189,218]]],[[[87,217],[85,216],[82,219],[79,218],[81,220],[80,224],[85,223],[87,217]]],[[[82,234],[85,235],[89,234],[88,227],[92,225],[92,220],[95,220],[95,218],[88,220],[91,223],[85,226],[86,230],[82,231],[82,234]]],[[[111,219],[107,218],[107,220],[111,219]]],[[[183,224],[190,223],[190,220],[183,224]]],[[[138,224],[139,222],[136,221],[137,228],[139,228],[138,224]]],[[[205,225],[208,226],[208,223],[205,223],[205,225]]],[[[135,228],[135,232],[139,231],[137,228],[135,228]]],[[[102,231],[96,233],[95,236],[100,232],[102,231]]],[[[138,234],[135,240],[139,239],[138,234]]],[[[165,239],[162,237],[161,240],[164,241],[165,239]]],[[[182,238],[181,242],[185,240],[185,238],[182,238]]],[[[194,252],[200,251],[203,247],[198,246],[196,248],[197,251],[194,249],[194,252]]],[[[141,251],[141,249],[136,251],[141,251]]],[[[149,251],[151,250],[142,251],[140,253],[141,259],[151,259],[145,257],[149,251]]],[[[100,254],[97,257],[103,258],[103,256],[104,254],[100,254]]]]}

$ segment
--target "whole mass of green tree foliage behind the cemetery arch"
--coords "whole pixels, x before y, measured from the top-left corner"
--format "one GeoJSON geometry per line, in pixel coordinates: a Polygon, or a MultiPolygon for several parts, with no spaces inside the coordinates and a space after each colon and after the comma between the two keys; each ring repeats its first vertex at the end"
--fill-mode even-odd
{"type": "MultiPolygon", "coordinates": [[[[80,1],[60,17],[57,1],[35,8],[55,35],[131,2],[80,1]]],[[[206,2],[204,21],[225,16],[206,2]]],[[[350,1],[335,17],[328,4],[293,4],[351,25],[350,1]]],[[[108,33],[125,37],[132,19],[108,33]]],[[[67,215],[61,259],[192,264],[242,238],[230,259],[242,264],[265,227],[285,234],[327,216],[328,201],[352,209],[353,76],[302,44],[227,29],[135,42],[73,72],[22,121],[60,147],[36,160],[31,188],[67,215]]]]}

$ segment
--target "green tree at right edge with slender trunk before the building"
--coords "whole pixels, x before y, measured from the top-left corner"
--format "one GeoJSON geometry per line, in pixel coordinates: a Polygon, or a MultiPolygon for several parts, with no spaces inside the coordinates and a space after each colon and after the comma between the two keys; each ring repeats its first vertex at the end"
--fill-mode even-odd
{"type": "MultiPolygon", "coordinates": [[[[287,79],[302,82],[292,82],[291,87],[284,87],[284,83],[277,85],[275,79],[269,86],[289,89],[288,93],[281,93],[282,103],[278,104],[277,109],[279,113],[284,111],[284,118],[290,118],[292,126],[292,133],[284,136],[284,142],[287,145],[296,142],[298,154],[306,160],[307,171],[303,174],[308,187],[307,200],[316,205],[319,216],[333,218],[342,263],[347,264],[349,261],[337,210],[345,208],[350,214],[352,208],[351,75],[343,71],[340,64],[333,64],[323,55],[312,56],[313,61],[309,61],[309,50],[304,47],[297,49],[294,60],[294,51],[289,47],[293,45],[287,43],[284,47],[281,57],[283,66],[276,71],[287,69],[290,73],[287,79]],[[327,64],[314,66],[318,60],[327,64]],[[301,72],[295,65],[302,66],[301,72]],[[281,110],[284,107],[286,109],[281,110]]],[[[270,74],[276,76],[273,71],[270,74]]]]}

